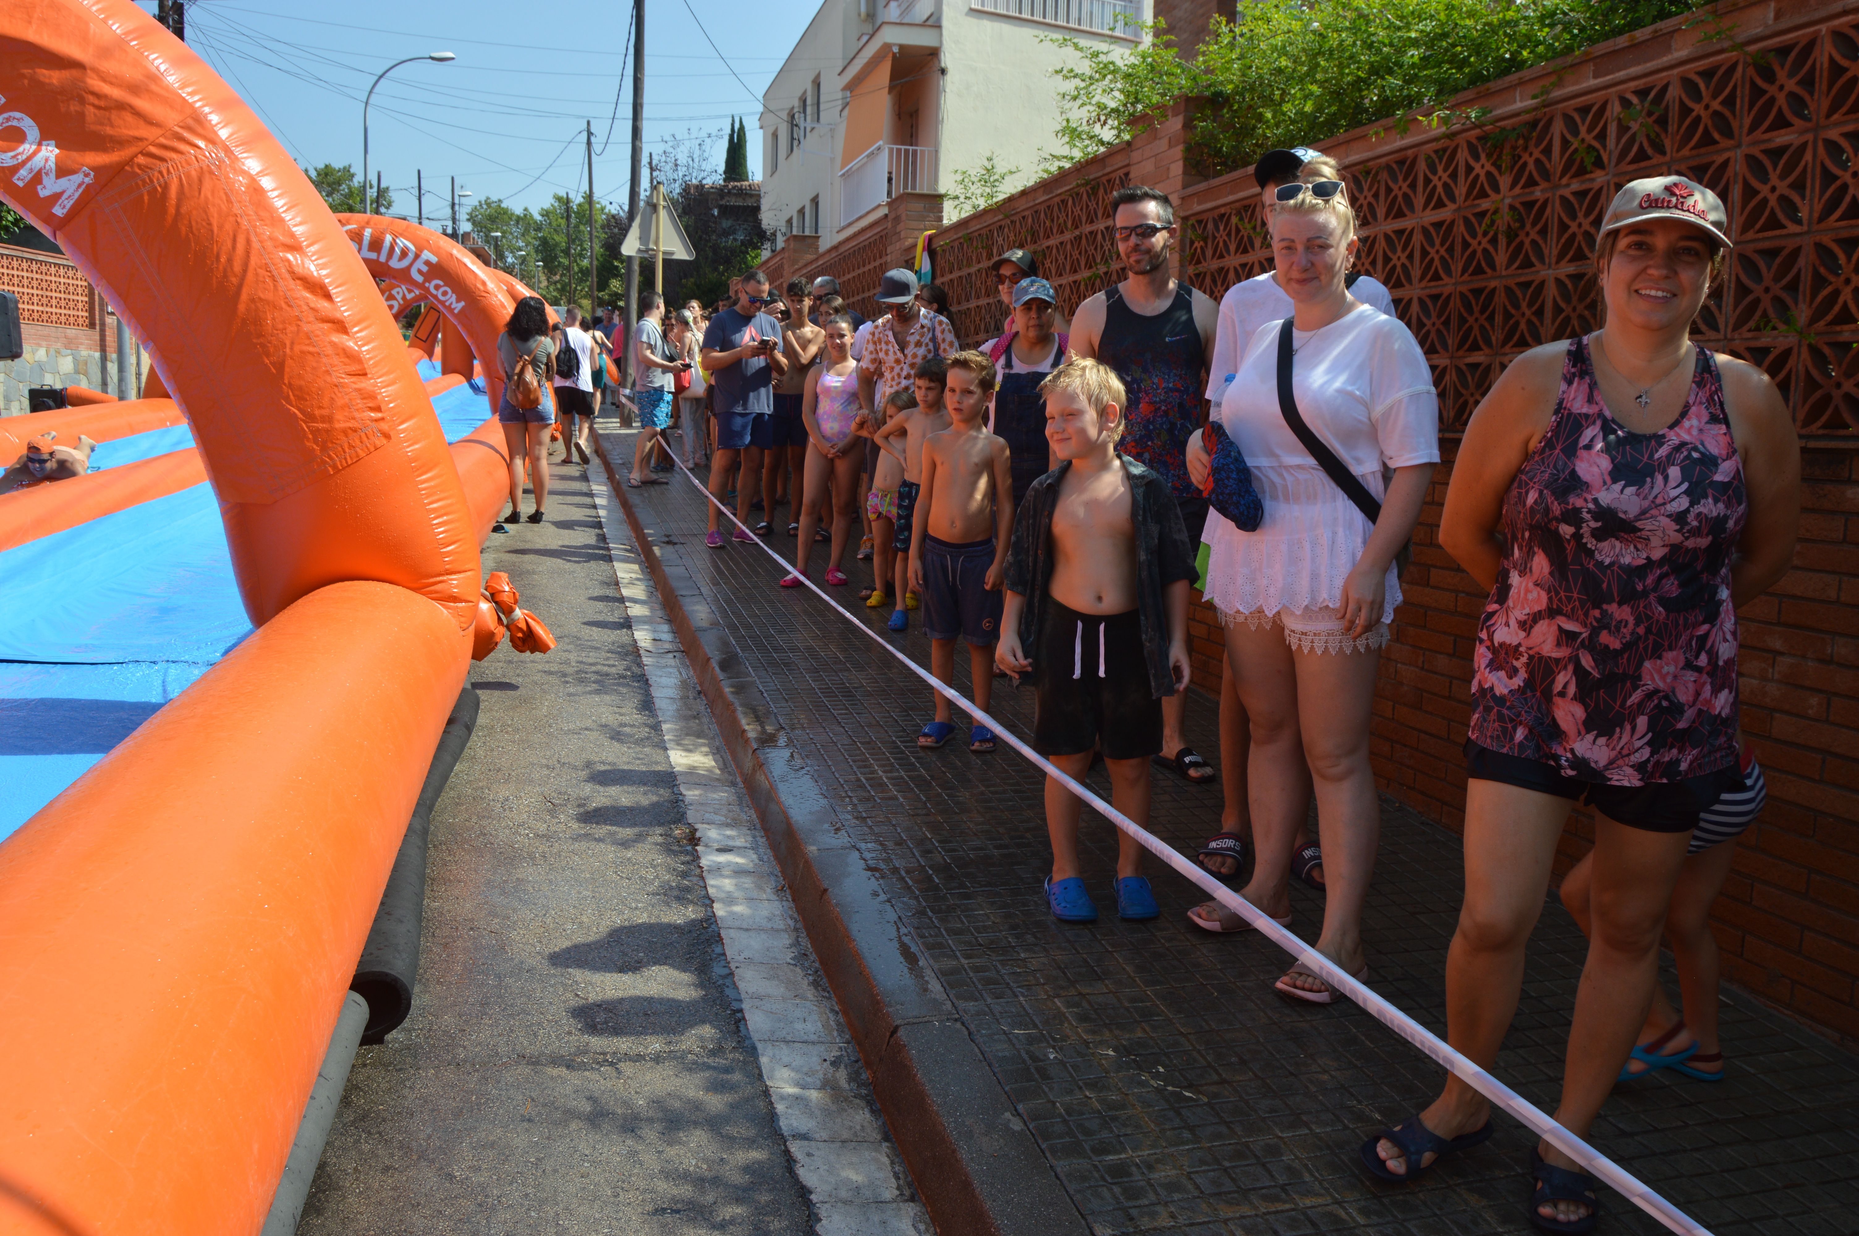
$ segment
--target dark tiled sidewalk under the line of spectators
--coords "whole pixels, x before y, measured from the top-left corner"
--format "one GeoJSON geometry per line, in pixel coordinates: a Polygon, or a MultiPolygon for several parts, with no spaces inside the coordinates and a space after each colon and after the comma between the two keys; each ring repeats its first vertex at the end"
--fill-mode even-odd
{"type": "MultiPolygon", "coordinates": [[[[1273,996],[1286,959],[1259,939],[1188,926],[1184,913],[1203,896],[1158,864],[1162,920],[1119,922],[1108,823],[1086,829],[1086,877],[1104,918],[1052,922],[1039,892],[1048,864],[1039,775],[1006,749],[920,753],[930,691],[868,636],[811,593],[779,589],[781,567],[762,550],[706,550],[705,502],[682,478],[626,496],[656,552],[697,578],[1093,1230],[1528,1230],[1532,1139],[1519,1124],[1500,1121],[1493,1143],[1417,1186],[1372,1180],[1357,1143],[1424,1102],[1439,1085],[1435,1065],[1353,1006],[1273,996]]],[[[857,610],[868,571],[846,567],[855,585],[844,604],[857,610]]],[[[816,576],[824,569],[820,556],[816,576]]],[[[883,617],[866,623],[881,632],[883,617]]],[[[926,662],[911,617],[909,634],[881,634],[926,662]]],[[[1028,734],[1032,693],[996,680],[993,712],[1028,734]]],[[[1195,697],[1190,742],[1208,758],[1214,721],[1210,701],[1195,697]]],[[[1108,797],[1101,771],[1093,788],[1108,797]]],[[[1218,812],[1218,788],[1158,769],[1156,835],[1192,849],[1218,812]]],[[[1372,983],[1435,1032],[1459,894],[1457,838],[1385,799],[1366,916],[1372,983]]],[[[1301,887],[1292,896],[1294,931],[1314,933],[1320,896],[1301,887]]],[[[1547,1110],[1584,952],[1552,903],[1495,1069],[1547,1110]]],[[[1859,1061],[1742,994],[1725,996],[1723,1039],[1723,1084],[1621,1087],[1593,1141],[1720,1236],[1859,1230],[1859,1061]]],[[[1606,1195],[1602,1210],[1602,1230],[1662,1230],[1619,1197],[1606,1195]]]]}

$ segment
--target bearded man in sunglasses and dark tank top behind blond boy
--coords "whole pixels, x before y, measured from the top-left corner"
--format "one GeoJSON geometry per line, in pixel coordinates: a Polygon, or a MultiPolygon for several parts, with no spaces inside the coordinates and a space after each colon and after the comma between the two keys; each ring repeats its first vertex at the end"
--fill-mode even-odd
{"type": "MultiPolygon", "coordinates": [[[[1071,355],[1102,361],[1123,379],[1128,407],[1117,452],[1167,481],[1188,543],[1197,545],[1208,507],[1188,480],[1188,437],[1206,422],[1201,392],[1220,307],[1169,270],[1180,229],[1167,193],[1130,184],[1110,197],[1110,210],[1128,277],[1078,307],[1071,355]]],[[[1203,784],[1214,779],[1214,768],[1182,734],[1186,708],[1182,691],[1162,699],[1162,755],[1154,762],[1203,784]]]]}

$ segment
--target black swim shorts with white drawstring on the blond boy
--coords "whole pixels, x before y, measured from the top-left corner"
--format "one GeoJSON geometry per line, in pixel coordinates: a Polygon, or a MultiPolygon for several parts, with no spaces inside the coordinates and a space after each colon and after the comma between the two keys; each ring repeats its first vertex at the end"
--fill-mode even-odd
{"type": "Polygon", "coordinates": [[[1149,693],[1143,621],[1128,613],[1078,613],[1047,598],[1034,651],[1034,751],[1106,760],[1162,753],[1162,701],[1149,693]]]}

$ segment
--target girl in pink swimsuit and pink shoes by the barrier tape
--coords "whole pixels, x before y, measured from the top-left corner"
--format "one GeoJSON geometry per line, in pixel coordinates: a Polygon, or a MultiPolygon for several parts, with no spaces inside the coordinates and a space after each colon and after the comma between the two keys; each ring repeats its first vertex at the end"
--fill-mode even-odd
{"type": "Polygon", "coordinates": [[[825,582],[838,587],[846,572],[838,563],[846,558],[846,539],[859,513],[859,474],[864,470],[864,442],[859,427],[859,366],[851,359],[851,318],[840,314],[825,323],[825,364],[814,366],[801,392],[801,424],[807,426],[807,476],[801,498],[799,545],[794,550],[794,574],[781,587],[799,587],[807,574],[807,558],[820,526],[820,509],[833,491],[833,556],[827,561],[825,582]]]}

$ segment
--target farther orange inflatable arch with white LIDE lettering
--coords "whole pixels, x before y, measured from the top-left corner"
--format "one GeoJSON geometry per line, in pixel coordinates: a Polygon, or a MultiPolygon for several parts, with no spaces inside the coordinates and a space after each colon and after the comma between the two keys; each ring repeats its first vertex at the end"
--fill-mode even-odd
{"type": "MultiPolygon", "coordinates": [[[[442,344],[448,374],[470,377],[470,359],[459,361],[454,355],[457,351],[452,346],[454,329],[465,336],[472,353],[496,355],[496,336],[504,333],[515,301],[465,245],[405,219],[372,214],[338,214],[336,219],[376,279],[416,288],[426,303],[444,316],[452,327],[446,329],[442,344]]],[[[494,416],[504,398],[504,372],[502,366],[491,364],[485,374],[485,392],[494,416]]]]}

